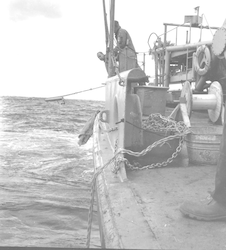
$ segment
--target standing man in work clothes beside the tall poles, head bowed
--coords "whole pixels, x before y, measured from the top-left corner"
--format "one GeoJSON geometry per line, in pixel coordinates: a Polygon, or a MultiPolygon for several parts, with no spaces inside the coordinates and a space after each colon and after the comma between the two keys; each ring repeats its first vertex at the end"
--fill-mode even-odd
{"type": "Polygon", "coordinates": [[[129,33],[122,29],[118,21],[114,23],[114,33],[117,45],[114,48],[116,60],[119,62],[119,72],[139,68],[137,53],[129,33]]]}

